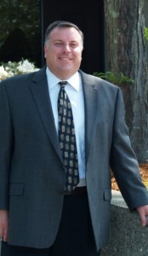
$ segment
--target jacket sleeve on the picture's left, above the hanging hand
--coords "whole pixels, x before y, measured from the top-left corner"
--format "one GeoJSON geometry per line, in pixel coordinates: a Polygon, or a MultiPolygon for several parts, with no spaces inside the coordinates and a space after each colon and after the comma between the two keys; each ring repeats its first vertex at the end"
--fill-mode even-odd
{"type": "Polygon", "coordinates": [[[9,209],[9,170],[13,136],[7,91],[0,83],[0,209],[9,209]]]}

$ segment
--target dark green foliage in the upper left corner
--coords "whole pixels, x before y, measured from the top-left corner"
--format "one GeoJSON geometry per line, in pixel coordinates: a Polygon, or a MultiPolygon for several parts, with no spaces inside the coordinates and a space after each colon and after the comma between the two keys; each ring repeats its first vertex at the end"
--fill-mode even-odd
{"type": "Polygon", "coordinates": [[[5,0],[0,1],[0,47],[11,32],[20,28],[31,41],[40,32],[40,1],[39,0],[5,0]]]}

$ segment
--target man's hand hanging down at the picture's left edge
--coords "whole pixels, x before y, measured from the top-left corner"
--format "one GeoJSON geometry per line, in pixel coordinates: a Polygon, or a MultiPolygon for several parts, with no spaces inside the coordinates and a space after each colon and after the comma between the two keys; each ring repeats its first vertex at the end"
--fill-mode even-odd
{"type": "Polygon", "coordinates": [[[7,210],[0,210],[0,237],[3,241],[7,241],[9,230],[9,212],[7,210]]]}

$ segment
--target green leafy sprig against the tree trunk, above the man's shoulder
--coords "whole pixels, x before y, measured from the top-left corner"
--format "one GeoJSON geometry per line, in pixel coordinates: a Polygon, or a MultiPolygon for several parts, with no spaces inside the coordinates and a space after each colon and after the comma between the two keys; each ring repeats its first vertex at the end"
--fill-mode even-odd
{"type": "Polygon", "coordinates": [[[128,78],[123,73],[113,73],[107,71],[105,73],[94,73],[94,76],[99,77],[100,79],[105,79],[112,84],[117,84],[118,86],[134,83],[133,79],[128,78]]]}

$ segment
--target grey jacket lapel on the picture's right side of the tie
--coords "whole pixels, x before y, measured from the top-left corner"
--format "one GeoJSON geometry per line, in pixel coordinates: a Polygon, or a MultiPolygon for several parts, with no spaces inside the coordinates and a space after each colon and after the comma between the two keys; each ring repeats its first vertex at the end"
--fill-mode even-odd
{"type": "Polygon", "coordinates": [[[84,109],[85,109],[85,159],[88,162],[88,154],[93,142],[95,119],[97,116],[97,90],[94,88],[93,79],[80,72],[83,81],[84,109]]]}

